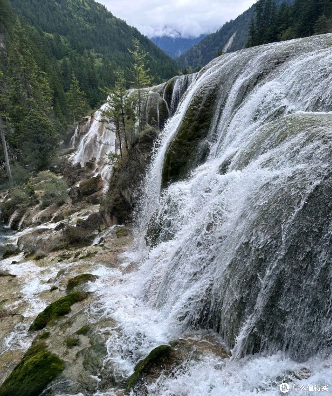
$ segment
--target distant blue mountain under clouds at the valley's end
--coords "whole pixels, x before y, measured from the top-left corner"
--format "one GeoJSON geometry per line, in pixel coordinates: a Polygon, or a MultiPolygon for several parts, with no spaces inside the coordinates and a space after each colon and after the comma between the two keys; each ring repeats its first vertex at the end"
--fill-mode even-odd
{"type": "Polygon", "coordinates": [[[177,58],[189,48],[203,40],[205,36],[206,34],[201,34],[199,37],[192,38],[181,37],[180,35],[176,37],[161,36],[152,37],[151,41],[172,58],[177,58]]]}

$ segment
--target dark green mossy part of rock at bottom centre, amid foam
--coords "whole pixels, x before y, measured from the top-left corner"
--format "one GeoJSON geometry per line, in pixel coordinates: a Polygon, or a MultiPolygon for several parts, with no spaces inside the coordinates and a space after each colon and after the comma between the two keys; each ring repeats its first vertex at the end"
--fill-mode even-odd
{"type": "Polygon", "coordinates": [[[161,369],[174,366],[175,360],[175,350],[171,346],[160,345],[154,348],[136,365],[127,381],[126,393],[129,394],[145,377],[159,377],[161,369]]]}

